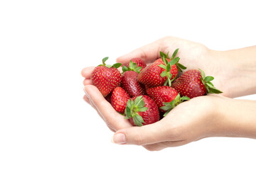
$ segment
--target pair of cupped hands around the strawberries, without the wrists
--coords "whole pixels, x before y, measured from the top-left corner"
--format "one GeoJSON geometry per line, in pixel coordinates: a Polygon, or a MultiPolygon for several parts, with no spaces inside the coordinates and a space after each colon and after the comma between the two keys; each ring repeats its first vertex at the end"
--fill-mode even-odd
{"type": "Polygon", "coordinates": [[[133,57],[141,57],[147,64],[160,57],[159,51],[174,52],[179,48],[178,57],[187,69],[202,69],[207,75],[215,77],[213,84],[224,91],[220,95],[207,95],[192,98],[176,106],[165,118],[151,125],[133,127],[129,120],[124,119],[111,104],[102,96],[95,86],[92,86],[90,75],[94,67],[82,69],[85,96],[110,130],[114,131],[112,141],[117,144],[142,145],[148,150],[160,150],[166,147],[176,147],[204,137],[215,135],[218,127],[218,106],[228,96],[228,89],[221,84],[223,72],[221,62],[215,51],[197,42],[180,38],[166,37],[145,45],[127,55],[117,58],[117,62],[127,63],[133,57]]]}

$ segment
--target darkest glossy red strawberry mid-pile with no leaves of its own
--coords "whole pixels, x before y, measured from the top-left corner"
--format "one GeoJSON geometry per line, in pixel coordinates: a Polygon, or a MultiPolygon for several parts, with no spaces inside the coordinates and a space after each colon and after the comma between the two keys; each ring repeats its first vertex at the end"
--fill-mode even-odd
{"type": "Polygon", "coordinates": [[[137,80],[138,73],[127,71],[122,74],[121,86],[129,94],[129,96],[141,96],[145,94],[144,85],[137,80]]]}

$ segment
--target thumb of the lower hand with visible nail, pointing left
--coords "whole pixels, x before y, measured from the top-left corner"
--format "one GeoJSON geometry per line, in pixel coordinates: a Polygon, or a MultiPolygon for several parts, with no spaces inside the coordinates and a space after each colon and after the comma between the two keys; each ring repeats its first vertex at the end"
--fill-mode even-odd
{"type": "Polygon", "coordinates": [[[144,125],[142,127],[131,127],[118,130],[112,137],[115,144],[149,145],[169,140],[168,126],[162,121],[144,125]]]}

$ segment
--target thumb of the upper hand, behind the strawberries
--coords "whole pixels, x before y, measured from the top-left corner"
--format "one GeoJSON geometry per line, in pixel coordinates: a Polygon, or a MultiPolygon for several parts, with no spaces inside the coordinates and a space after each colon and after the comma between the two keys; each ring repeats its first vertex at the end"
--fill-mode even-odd
{"type": "Polygon", "coordinates": [[[161,43],[163,42],[163,38],[160,40],[156,40],[149,45],[145,45],[143,47],[138,48],[132,52],[129,52],[127,55],[123,55],[117,58],[117,62],[127,63],[129,60],[135,57],[139,57],[144,62],[149,63],[153,62],[157,58],[160,57],[159,51],[161,50],[161,43]]]}

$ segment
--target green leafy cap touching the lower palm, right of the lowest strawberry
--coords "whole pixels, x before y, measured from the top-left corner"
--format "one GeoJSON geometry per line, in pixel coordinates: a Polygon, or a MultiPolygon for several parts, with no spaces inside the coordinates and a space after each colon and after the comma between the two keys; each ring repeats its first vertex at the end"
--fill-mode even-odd
{"type": "Polygon", "coordinates": [[[188,98],[187,96],[183,96],[181,97],[180,94],[178,94],[173,101],[171,102],[164,102],[164,106],[161,106],[161,110],[166,111],[166,113],[164,113],[164,116],[166,116],[171,109],[175,108],[176,106],[178,106],[178,104],[180,104],[183,101],[188,101],[190,100],[190,98],[188,98]]]}

